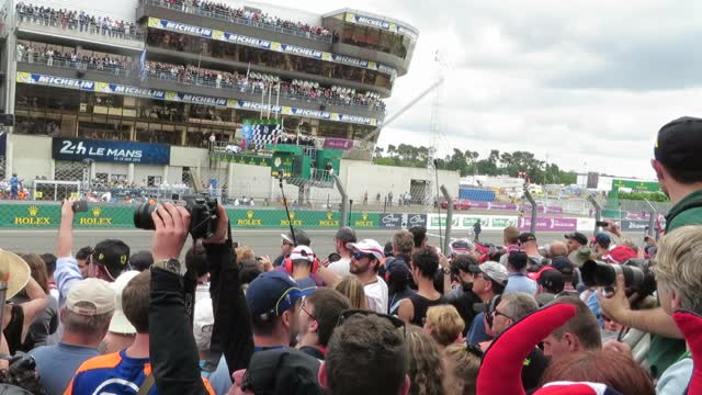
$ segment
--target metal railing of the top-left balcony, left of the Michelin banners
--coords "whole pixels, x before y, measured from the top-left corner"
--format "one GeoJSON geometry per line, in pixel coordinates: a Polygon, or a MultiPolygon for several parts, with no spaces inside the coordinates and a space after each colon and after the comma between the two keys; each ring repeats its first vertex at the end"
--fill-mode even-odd
{"type": "MultiPolygon", "coordinates": [[[[58,27],[68,31],[75,31],[79,33],[101,35],[110,38],[121,38],[129,41],[144,41],[144,35],[139,32],[131,32],[124,26],[113,26],[105,23],[95,23],[92,21],[84,21],[79,19],[55,18],[48,14],[39,14],[37,10],[32,13],[18,10],[19,23],[31,23],[39,26],[58,27]]],[[[134,29],[136,25],[132,24],[134,29]]]]}

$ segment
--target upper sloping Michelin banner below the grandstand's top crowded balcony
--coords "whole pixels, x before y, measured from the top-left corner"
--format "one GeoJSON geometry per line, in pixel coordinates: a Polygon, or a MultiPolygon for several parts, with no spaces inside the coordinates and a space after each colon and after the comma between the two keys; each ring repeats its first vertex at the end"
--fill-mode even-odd
{"type": "Polygon", "coordinates": [[[241,34],[211,30],[206,27],[199,27],[199,26],[188,25],[184,23],[168,21],[159,18],[149,18],[148,26],[152,29],[188,34],[192,36],[203,37],[203,38],[212,38],[212,40],[238,44],[238,45],[246,45],[246,46],[259,48],[259,49],[275,50],[284,54],[303,56],[306,58],[312,58],[317,60],[351,65],[355,67],[365,68],[369,70],[385,72],[390,75],[393,78],[397,77],[397,70],[386,65],[381,65],[375,61],[358,59],[350,56],[335,55],[331,53],[321,52],[321,50],[312,49],[312,48],[305,48],[296,45],[271,42],[268,40],[249,37],[241,34]]]}

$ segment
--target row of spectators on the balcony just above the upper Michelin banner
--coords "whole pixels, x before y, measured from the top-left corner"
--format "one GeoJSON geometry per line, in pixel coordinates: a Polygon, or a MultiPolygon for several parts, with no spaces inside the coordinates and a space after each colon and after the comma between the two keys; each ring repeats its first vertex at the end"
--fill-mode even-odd
{"type": "Polygon", "coordinates": [[[331,38],[331,33],[324,26],[314,26],[303,22],[294,22],[274,15],[269,15],[267,13],[260,13],[251,9],[234,8],[219,2],[201,0],[161,0],[161,2],[169,4],[171,8],[180,8],[183,12],[200,11],[201,13],[212,13],[216,18],[230,21],[234,21],[234,19],[244,19],[269,26],[288,29],[299,33],[309,34],[312,36],[331,38]]]}

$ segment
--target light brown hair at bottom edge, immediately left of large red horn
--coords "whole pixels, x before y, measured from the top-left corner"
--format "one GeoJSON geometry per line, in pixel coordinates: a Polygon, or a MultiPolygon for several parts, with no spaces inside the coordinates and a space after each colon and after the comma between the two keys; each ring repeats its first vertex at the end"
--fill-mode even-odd
{"type": "Polygon", "coordinates": [[[451,345],[443,351],[446,388],[455,395],[475,395],[475,385],[483,358],[465,345],[451,345]]]}

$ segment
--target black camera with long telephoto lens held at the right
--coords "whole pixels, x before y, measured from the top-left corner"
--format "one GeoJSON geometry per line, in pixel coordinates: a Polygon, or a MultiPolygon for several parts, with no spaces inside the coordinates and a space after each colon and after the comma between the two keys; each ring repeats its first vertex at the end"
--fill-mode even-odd
{"type": "Polygon", "coordinates": [[[626,296],[636,294],[632,301],[635,305],[656,291],[656,276],[652,269],[649,259],[630,259],[621,264],[589,260],[582,264],[580,273],[587,286],[602,286],[610,291],[616,285],[616,275],[623,274],[626,296]]]}

